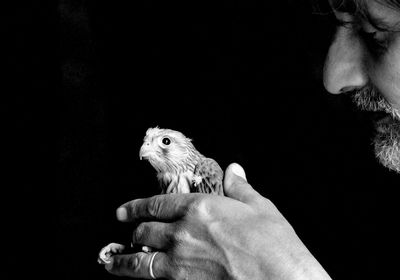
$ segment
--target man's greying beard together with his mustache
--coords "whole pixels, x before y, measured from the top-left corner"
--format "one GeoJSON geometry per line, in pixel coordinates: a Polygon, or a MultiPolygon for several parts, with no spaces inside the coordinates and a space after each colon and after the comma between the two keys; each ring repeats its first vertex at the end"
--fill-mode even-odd
{"type": "Polygon", "coordinates": [[[361,110],[386,113],[375,121],[375,155],[383,166],[400,173],[400,111],[371,85],[356,91],[352,100],[361,110]]]}

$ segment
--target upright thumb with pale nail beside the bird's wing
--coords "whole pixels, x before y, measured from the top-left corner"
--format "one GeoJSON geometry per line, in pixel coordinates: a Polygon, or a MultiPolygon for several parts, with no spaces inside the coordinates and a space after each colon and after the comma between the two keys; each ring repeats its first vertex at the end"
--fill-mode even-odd
{"type": "Polygon", "coordinates": [[[225,171],[224,192],[233,199],[251,204],[259,194],[247,183],[244,169],[232,163],[225,171]]]}

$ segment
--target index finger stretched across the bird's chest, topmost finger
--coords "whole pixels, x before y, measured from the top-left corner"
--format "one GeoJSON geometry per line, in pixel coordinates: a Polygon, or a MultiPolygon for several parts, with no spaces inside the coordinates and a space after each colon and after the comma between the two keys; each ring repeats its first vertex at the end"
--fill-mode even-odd
{"type": "Polygon", "coordinates": [[[170,221],[183,217],[188,206],[199,198],[199,193],[163,194],[150,198],[141,198],[122,204],[117,209],[117,218],[121,222],[139,219],[170,221]]]}

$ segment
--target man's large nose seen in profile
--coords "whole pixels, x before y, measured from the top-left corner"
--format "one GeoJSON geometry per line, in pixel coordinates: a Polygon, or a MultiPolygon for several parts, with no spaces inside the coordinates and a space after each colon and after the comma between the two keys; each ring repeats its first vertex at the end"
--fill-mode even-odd
{"type": "Polygon", "coordinates": [[[362,88],[368,82],[364,46],[348,27],[339,27],[324,66],[324,86],[333,94],[362,88]]]}

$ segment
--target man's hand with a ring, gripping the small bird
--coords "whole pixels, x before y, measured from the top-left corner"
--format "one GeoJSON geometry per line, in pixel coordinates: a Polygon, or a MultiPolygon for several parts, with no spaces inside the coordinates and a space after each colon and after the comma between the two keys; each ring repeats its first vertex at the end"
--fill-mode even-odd
{"type": "MultiPolygon", "coordinates": [[[[224,191],[227,197],[157,195],[117,209],[120,221],[140,222],[133,243],[159,251],[156,278],[331,279],[274,204],[247,183],[240,165],[227,168],[224,191]]],[[[105,268],[150,279],[152,254],[115,255],[105,268]]]]}

